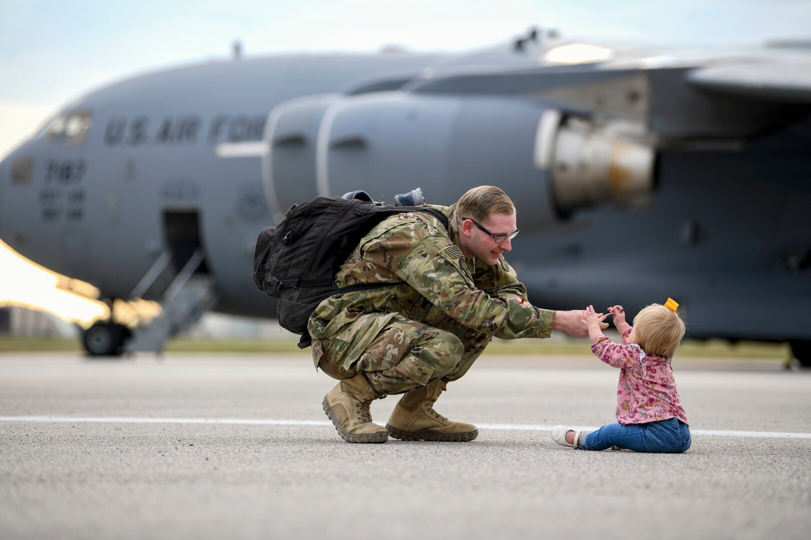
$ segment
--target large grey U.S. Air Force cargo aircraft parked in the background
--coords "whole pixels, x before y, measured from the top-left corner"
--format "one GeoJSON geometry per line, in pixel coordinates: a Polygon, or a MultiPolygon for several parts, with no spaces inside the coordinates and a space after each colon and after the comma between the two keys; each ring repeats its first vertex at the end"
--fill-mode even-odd
{"type": "Polygon", "coordinates": [[[260,230],[294,203],[476,185],[517,203],[508,254],[544,308],[668,296],[692,338],[811,364],[811,47],[608,46],[533,29],[461,54],[279,55],[144,74],[58,112],[0,164],[0,237],[161,302],[91,355],[160,351],[207,309],[272,317],[260,230]]]}

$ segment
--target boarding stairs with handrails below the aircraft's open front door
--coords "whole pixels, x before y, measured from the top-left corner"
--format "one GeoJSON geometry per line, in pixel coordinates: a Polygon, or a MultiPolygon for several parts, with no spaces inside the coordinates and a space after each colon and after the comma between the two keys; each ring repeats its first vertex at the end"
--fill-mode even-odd
{"type": "MultiPolygon", "coordinates": [[[[144,279],[132,291],[131,297],[143,296],[163,273],[171,259],[172,253],[169,250],[162,253],[144,275],[144,279]]],[[[169,338],[188,330],[214,304],[217,304],[212,277],[208,274],[195,274],[195,270],[200,267],[203,260],[203,250],[197,249],[166,289],[161,299],[162,313],[148,325],[133,330],[132,337],[124,346],[127,353],[153,351],[160,354],[169,338]]]]}

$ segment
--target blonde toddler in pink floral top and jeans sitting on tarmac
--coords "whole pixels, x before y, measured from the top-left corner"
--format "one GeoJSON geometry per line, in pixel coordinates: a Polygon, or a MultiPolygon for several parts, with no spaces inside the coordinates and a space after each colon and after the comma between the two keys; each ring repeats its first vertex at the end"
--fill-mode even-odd
{"type": "Polygon", "coordinates": [[[597,358],[620,368],[616,419],[595,432],[583,433],[566,426],[552,429],[552,440],[583,450],[629,449],[637,452],[681,453],[690,448],[690,429],[681,406],[672,359],[684,337],[684,321],[676,304],[650,304],[625,322],[620,305],[608,308],[622,344],[603,335],[600,323],[608,314],[586,308],[582,323],[589,330],[591,351],[597,358]]]}

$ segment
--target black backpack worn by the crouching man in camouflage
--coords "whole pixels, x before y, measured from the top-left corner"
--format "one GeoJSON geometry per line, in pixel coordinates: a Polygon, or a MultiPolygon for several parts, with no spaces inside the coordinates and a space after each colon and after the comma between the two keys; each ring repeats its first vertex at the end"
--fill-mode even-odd
{"type": "Polygon", "coordinates": [[[287,210],[277,227],[265,227],[256,240],[256,287],[279,299],[279,324],[310,346],[307,321],[321,300],[335,294],[384,287],[369,283],[338,288],[335,274],[358,243],[390,215],[427,212],[448,228],[448,218],[424,206],[382,206],[359,199],[316,197],[287,210]]]}

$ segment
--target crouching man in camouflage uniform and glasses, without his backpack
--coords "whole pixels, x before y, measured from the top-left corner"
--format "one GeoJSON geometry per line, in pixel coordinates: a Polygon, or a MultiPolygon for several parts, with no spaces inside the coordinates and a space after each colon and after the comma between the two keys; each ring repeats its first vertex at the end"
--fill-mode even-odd
{"type": "Polygon", "coordinates": [[[515,208],[503,191],[481,186],[453,206],[432,207],[448,217],[448,230],[423,212],[384,219],[336,275],[338,287],[380,287],[331,296],[310,318],[315,367],[341,380],[324,410],[349,442],[385,442],[388,435],[473,440],[473,424],[444,418],[433,403],[491,338],[581,332],[581,312],[524,301],[526,289],[501,254],[517,234],[515,208]],[[386,427],[371,423],[371,401],[399,393],[405,395],[386,427]]]}

